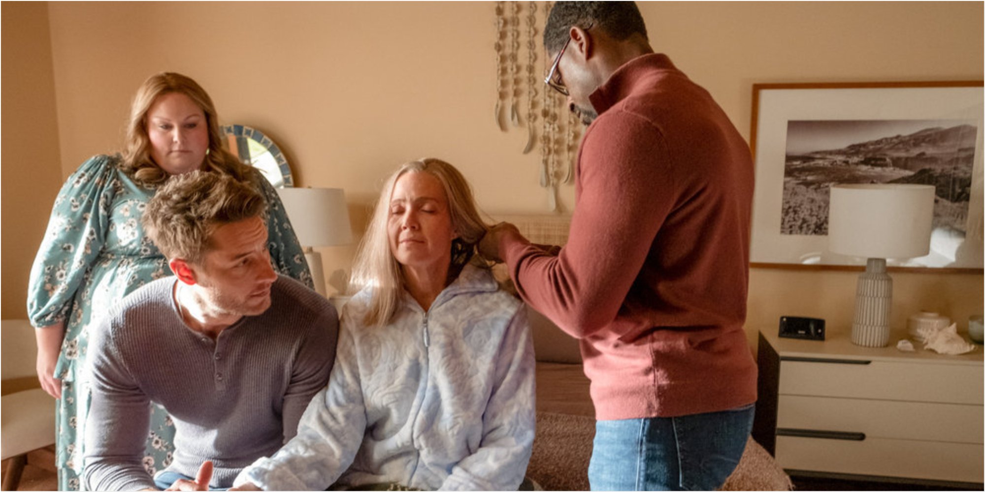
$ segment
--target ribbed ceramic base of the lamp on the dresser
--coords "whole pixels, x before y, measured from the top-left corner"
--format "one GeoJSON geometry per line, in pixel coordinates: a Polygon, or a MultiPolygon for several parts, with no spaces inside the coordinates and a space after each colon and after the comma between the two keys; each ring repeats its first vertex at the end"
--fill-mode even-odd
{"type": "Polygon", "coordinates": [[[870,258],[859,276],[855,291],[855,321],[852,343],[862,346],[889,344],[889,308],[892,306],[892,278],[886,274],[886,260],[870,258]]]}

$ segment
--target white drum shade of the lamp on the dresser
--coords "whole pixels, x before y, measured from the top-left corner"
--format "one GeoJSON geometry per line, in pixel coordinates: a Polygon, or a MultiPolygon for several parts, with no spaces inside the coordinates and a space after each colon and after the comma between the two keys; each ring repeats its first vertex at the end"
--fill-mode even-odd
{"type": "Polygon", "coordinates": [[[832,185],[827,247],[863,258],[915,258],[930,252],[934,187],[832,185]]]}

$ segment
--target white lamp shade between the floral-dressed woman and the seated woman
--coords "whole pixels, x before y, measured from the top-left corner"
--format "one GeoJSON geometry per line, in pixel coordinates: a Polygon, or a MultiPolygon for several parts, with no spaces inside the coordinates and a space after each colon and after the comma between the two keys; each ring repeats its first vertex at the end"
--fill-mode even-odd
{"type": "Polygon", "coordinates": [[[301,246],[341,246],[353,242],[346,193],[340,188],[278,188],[301,246]]]}

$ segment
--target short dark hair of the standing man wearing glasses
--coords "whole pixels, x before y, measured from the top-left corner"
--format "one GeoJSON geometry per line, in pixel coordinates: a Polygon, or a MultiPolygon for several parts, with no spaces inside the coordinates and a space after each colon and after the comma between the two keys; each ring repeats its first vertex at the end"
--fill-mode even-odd
{"type": "Polygon", "coordinates": [[[646,38],[646,25],[635,2],[556,2],[544,27],[544,49],[557,53],[572,26],[600,29],[616,39],[646,38]]]}

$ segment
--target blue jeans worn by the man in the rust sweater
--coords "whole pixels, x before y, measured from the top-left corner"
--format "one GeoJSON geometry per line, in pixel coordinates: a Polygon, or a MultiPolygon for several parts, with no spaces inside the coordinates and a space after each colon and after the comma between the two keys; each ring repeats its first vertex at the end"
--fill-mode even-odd
{"type": "Polygon", "coordinates": [[[599,420],[592,490],[715,490],[732,474],[753,428],[755,405],[681,417],[599,420]]]}

